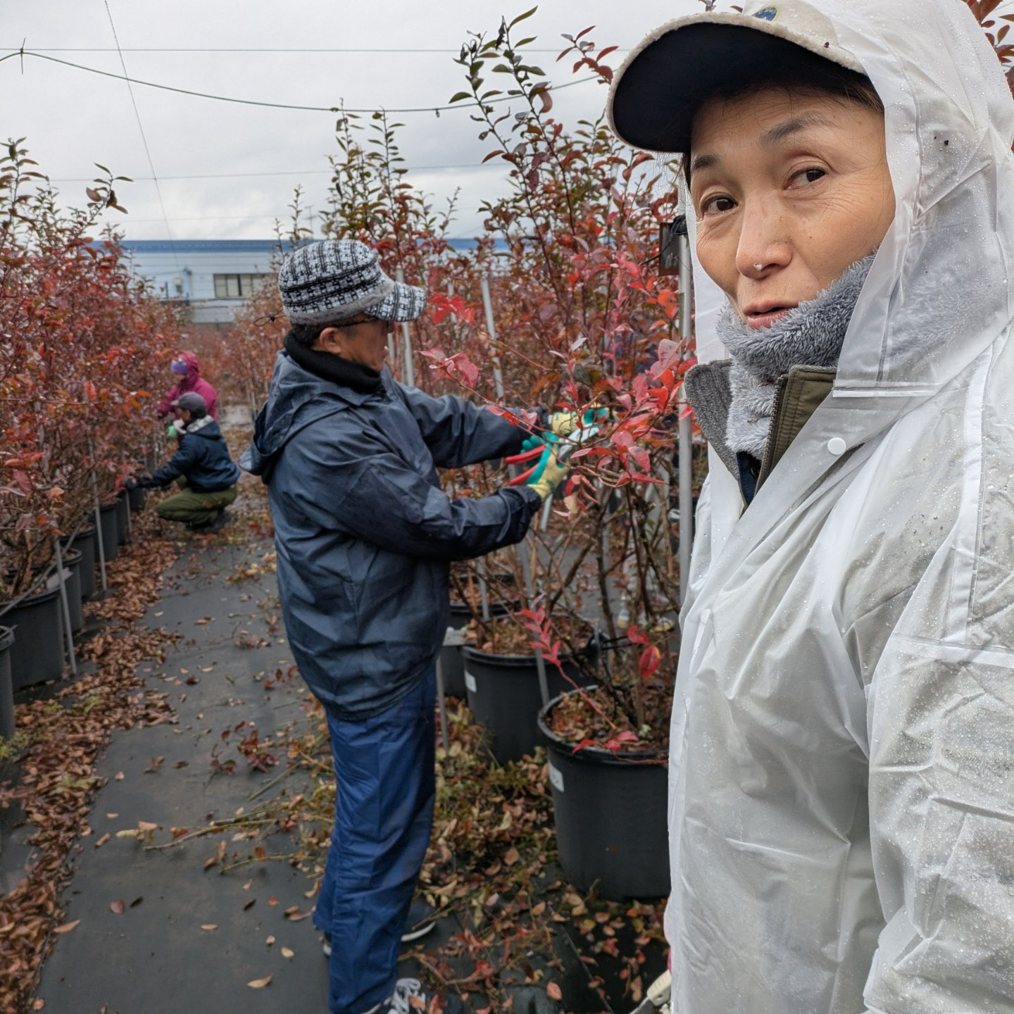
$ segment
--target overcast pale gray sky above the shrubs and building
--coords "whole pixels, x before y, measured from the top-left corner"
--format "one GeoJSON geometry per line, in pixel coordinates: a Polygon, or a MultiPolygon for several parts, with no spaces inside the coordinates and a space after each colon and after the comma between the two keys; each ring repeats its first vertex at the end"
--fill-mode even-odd
{"type": "MultiPolygon", "coordinates": [[[[467,32],[495,32],[502,14],[510,19],[530,6],[531,0],[108,0],[131,77],[261,101],[332,106],[344,99],[349,108],[446,104],[463,87],[453,56],[467,32]],[[158,49],[188,52],[150,52],[158,49]],[[350,52],[220,52],[238,49],[350,52]]],[[[0,57],[23,40],[26,50],[122,73],[104,0],[6,7],[0,57]]],[[[594,24],[589,38],[623,50],[669,18],[701,9],[699,0],[544,0],[524,34],[538,37],[533,47],[552,50],[538,54],[539,66],[564,84],[575,77],[573,61],[555,62],[566,45],[563,32],[594,24]]],[[[609,58],[613,66],[623,55],[609,58]]],[[[152,172],[124,81],[35,58],[24,58],[23,68],[20,57],[0,63],[0,140],[26,137],[67,204],[83,200],[82,180],[95,174],[95,162],[131,176],[135,183],[119,192],[130,213],[111,215],[134,239],[268,237],[275,217],[288,218],[297,184],[307,205],[324,204],[325,155],[337,150],[333,114],[133,89],[168,224],[155,184],[144,178],[152,172]]],[[[604,97],[598,84],[578,84],[554,96],[554,114],[571,125],[596,116],[604,97]]],[[[407,164],[428,167],[410,178],[441,206],[459,187],[451,232],[475,234],[477,208],[502,187],[504,163],[479,165],[490,145],[478,140],[463,110],[399,119],[407,164]]]]}

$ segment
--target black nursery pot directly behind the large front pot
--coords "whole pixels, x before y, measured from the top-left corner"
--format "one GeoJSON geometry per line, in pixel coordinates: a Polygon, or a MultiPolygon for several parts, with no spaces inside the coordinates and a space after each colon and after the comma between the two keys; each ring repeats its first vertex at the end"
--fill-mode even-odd
{"type": "MultiPolygon", "coordinates": [[[[536,722],[542,707],[535,656],[497,655],[470,644],[462,654],[468,708],[489,730],[490,752],[500,764],[530,754],[539,742],[536,722]]],[[[573,659],[565,659],[563,669],[579,686],[591,681],[573,659]]],[[[546,666],[546,677],[550,698],[574,685],[555,665],[546,666]]]]}

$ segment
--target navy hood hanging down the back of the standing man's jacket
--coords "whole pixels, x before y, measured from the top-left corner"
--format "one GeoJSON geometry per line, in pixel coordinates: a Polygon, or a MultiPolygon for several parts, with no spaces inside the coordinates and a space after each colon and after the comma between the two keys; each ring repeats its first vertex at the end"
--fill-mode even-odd
{"type": "Polygon", "coordinates": [[[254,439],[239,459],[240,466],[269,482],[278,454],[301,429],[370,396],[324,380],[279,352],[268,401],[258,415],[254,439]]]}

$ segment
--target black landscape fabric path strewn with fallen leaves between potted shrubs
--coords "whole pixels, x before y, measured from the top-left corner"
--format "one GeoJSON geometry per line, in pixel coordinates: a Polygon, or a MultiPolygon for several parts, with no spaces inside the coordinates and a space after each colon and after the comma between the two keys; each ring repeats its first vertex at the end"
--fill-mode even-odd
{"type": "MultiPolygon", "coordinates": [[[[210,819],[251,808],[250,797],[280,769],[258,773],[239,758],[235,775],[213,775],[212,748],[221,743],[223,729],[241,721],[271,735],[297,717],[305,699],[298,679],[270,691],[262,682],[266,673],[291,664],[277,620],[274,574],[259,567],[270,540],[230,535],[226,528],[183,547],[161,599],[143,621],[180,635],[168,646],[164,664],[142,666],[149,686],[169,692],[177,721],[117,732],[101,756],[96,773],[105,783],[93,802],[91,832],[72,850],[74,874],[64,893],[64,921],[80,923],[56,938],[37,1003],[45,1000],[47,1014],[325,1014],[327,959],[312,921],[301,918],[314,900],[307,896],[312,881],[304,872],[286,862],[255,862],[224,875],[220,865],[205,870],[220,841],[228,843],[230,855],[242,853],[229,835],[159,850],[146,850],[143,839],[117,837],[143,821],[158,825],[154,841],[162,844],[168,828],[199,829],[210,819]],[[257,579],[237,581],[249,567],[257,579]],[[99,845],[105,835],[111,837],[99,845]],[[269,976],[263,988],[249,985],[269,976]]],[[[231,744],[229,751],[238,757],[231,744]]],[[[5,836],[5,889],[30,855],[28,830],[15,827],[5,836]]],[[[426,939],[426,949],[460,932],[452,914],[426,939]]],[[[532,954],[531,964],[548,968],[552,962],[548,970],[562,986],[564,1009],[608,1009],[589,989],[574,939],[558,934],[557,953],[532,954]]],[[[411,959],[401,970],[420,971],[411,959]]],[[[469,970],[462,966],[462,974],[469,970]]],[[[514,995],[514,1014],[560,1009],[541,987],[518,982],[501,988],[514,995]]],[[[622,994],[620,983],[606,988],[622,994]]],[[[470,1009],[486,1006],[480,995],[469,997],[470,1009]]]]}

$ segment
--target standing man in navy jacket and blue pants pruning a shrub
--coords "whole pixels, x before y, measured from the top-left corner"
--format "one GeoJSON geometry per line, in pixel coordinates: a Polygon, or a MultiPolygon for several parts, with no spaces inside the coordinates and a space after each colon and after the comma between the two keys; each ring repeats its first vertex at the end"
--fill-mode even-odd
{"type": "Polygon", "coordinates": [[[552,459],[534,486],[449,499],[438,467],[516,453],[528,433],[384,368],[389,321],[418,317],[425,290],[353,240],[301,247],[278,284],[292,330],[240,463],[268,486],[289,643],[331,731],[339,789],[314,914],[330,1007],[425,1009],[396,966],[425,929],[410,911],[433,821],[449,565],[519,542],[566,469],[552,459]]]}

